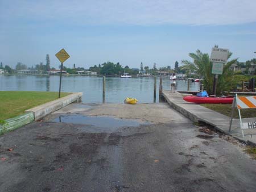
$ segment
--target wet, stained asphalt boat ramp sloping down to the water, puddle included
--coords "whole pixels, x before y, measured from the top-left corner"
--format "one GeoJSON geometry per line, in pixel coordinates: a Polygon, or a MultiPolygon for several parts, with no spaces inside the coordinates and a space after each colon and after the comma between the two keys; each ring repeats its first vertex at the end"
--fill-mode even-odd
{"type": "Polygon", "coordinates": [[[0,136],[0,191],[256,191],[256,161],[200,131],[166,103],[70,105],[0,136]]]}

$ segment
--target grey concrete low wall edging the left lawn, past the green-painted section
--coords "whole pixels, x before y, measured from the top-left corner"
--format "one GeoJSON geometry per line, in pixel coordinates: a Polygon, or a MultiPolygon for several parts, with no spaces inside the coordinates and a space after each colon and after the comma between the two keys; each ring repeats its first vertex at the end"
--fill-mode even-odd
{"type": "Polygon", "coordinates": [[[39,105],[34,108],[30,108],[26,110],[25,112],[32,112],[34,114],[34,119],[38,120],[43,118],[44,116],[50,114],[51,112],[54,112],[56,110],[59,110],[60,108],[63,108],[70,103],[73,102],[81,102],[82,93],[73,93],[71,95],[67,95],[63,98],[56,99],[54,101],[45,103],[43,105],[39,105]]]}

